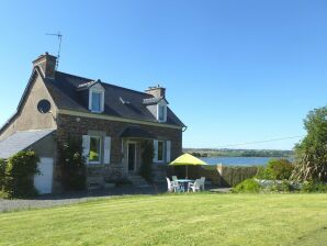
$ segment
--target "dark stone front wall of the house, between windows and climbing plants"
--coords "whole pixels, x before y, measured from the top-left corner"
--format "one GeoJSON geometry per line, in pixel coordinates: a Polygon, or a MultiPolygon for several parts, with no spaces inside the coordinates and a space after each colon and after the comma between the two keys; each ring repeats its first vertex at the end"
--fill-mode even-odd
{"type": "MultiPolygon", "coordinates": [[[[75,116],[68,114],[58,114],[57,116],[57,143],[63,144],[69,136],[81,138],[82,135],[88,135],[90,131],[104,132],[111,137],[111,161],[109,165],[89,165],[88,177],[99,177],[99,180],[115,181],[127,176],[127,166],[124,153],[124,139],[121,134],[126,127],[137,126],[154,134],[161,141],[171,142],[171,159],[177,158],[182,153],[182,130],[162,126],[153,126],[145,124],[134,124],[127,122],[117,122],[101,120],[87,116],[75,116]]],[[[57,165],[58,167],[59,165],[57,165]]],[[[154,174],[162,174],[162,168],[166,163],[154,164],[154,174]]],[[[56,170],[56,179],[60,179],[59,169],[56,170]]]]}

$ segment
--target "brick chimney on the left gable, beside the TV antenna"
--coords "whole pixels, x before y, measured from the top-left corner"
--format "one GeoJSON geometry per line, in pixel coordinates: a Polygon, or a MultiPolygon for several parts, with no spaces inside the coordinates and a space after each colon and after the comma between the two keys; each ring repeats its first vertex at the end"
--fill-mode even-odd
{"type": "Polygon", "coordinates": [[[47,79],[55,79],[57,57],[49,55],[47,52],[44,55],[33,60],[33,67],[38,66],[43,76],[47,79]]]}

